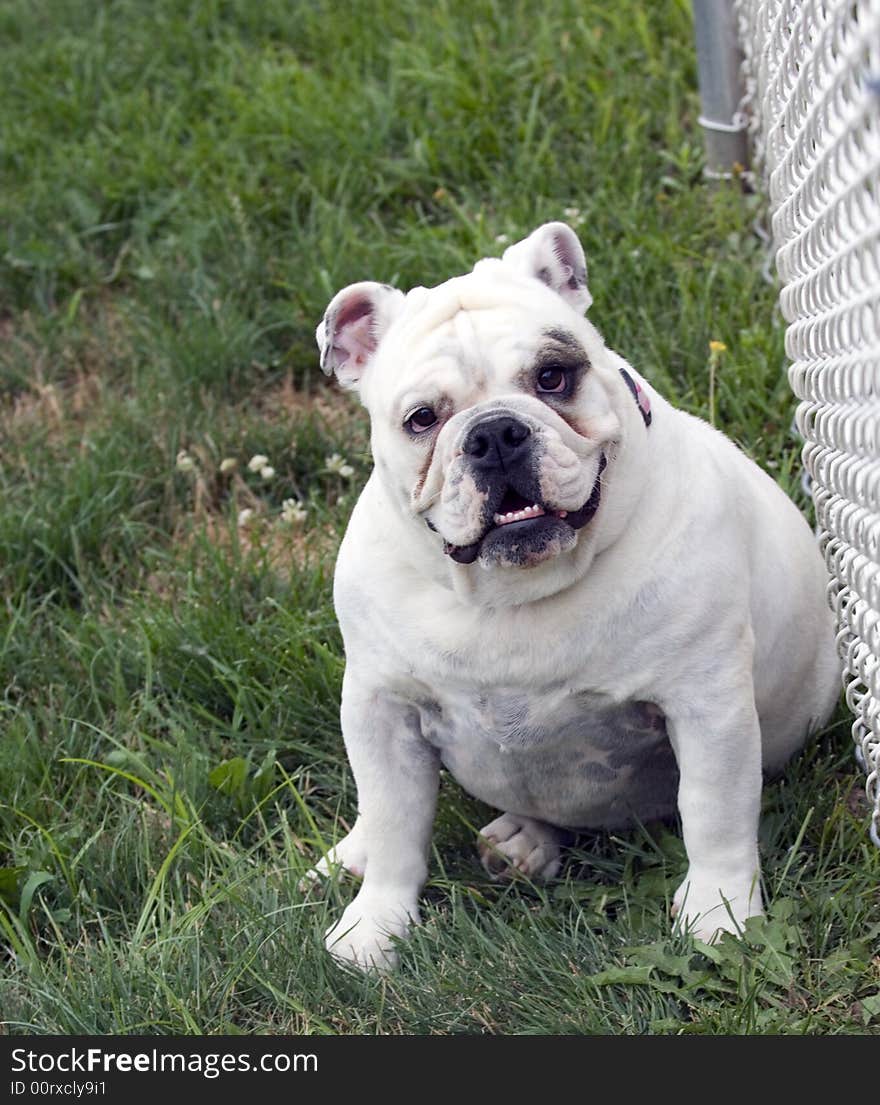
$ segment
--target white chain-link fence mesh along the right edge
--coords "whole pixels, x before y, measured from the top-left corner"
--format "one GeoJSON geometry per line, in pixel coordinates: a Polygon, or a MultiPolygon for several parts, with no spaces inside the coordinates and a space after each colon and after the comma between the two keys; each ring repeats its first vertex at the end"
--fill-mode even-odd
{"type": "Polygon", "coordinates": [[[735,0],[797,424],[880,846],[880,0],[735,0]]]}

